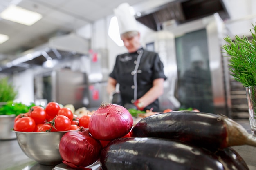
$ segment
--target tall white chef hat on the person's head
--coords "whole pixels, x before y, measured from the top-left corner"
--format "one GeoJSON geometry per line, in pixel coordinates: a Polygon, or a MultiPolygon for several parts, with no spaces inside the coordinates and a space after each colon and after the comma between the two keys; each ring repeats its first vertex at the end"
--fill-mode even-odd
{"type": "Polygon", "coordinates": [[[120,35],[128,31],[139,31],[135,17],[130,13],[130,5],[122,3],[114,9],[117,17],[120,35]]]}

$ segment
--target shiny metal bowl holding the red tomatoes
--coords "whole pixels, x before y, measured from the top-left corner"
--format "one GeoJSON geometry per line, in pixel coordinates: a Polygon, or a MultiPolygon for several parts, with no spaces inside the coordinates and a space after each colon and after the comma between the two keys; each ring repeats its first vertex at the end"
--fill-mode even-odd
{"type": "Polygon", "coordinates": [[[16,133],[21,150],[43,165],[57,165],[62,162],[59,152],[61,137],[69,132],[18,132],[16,133]]]}

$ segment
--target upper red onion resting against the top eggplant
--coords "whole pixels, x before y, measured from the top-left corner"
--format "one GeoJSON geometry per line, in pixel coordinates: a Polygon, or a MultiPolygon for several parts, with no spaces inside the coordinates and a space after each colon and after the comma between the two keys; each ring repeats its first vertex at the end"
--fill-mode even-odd
{"type": "Polygon", "coordinates": [[[132,125],[132,115],[126,108],[102,103],[90,118],[89,131],[98,140],[111,141],[126,135],[132,125]]]}

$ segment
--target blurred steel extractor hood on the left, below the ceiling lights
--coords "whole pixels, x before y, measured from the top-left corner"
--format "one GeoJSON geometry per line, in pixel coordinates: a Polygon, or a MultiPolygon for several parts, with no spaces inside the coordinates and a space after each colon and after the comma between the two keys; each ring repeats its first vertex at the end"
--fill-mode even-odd
{"type": "Polygon", "coordinates": [[[88,55],[89,50],[90,40],[74,33],[52,37],[46,44],[20,53],[14,60],[0,65],[0,73],[24,71],[34,66],[42,66],[47,60],[60,61],[88,55]]]}

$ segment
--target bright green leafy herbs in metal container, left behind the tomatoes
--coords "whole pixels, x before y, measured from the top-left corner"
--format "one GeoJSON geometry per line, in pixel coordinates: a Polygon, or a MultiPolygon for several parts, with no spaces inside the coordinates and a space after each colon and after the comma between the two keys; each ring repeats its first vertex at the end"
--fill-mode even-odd
{"type": "Polygon", "coordinates": [[[19,115],[20,113],[27,113],[32,106],[36,106],[34,103],[25,105],[20,102],[8,101],[5,105],[0,106],[0,115],[19,115]]]}

